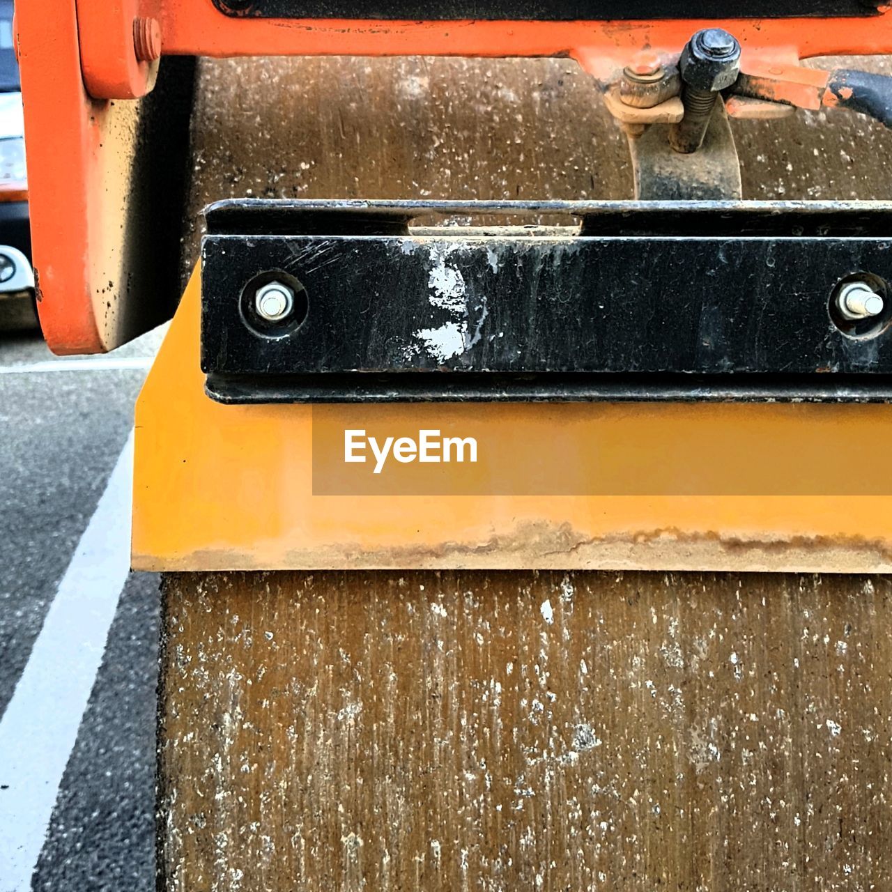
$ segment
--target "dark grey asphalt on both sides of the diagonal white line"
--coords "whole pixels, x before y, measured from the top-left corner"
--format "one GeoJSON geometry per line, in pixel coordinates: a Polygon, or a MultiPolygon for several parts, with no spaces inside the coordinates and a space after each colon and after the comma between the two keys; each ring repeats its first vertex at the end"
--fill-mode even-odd
{"type": "MultiPolygon", "coordinates": [[[[152,356],[159,342],[146,335],[118,354],[152,356]]],[[[53,359],[37,332],[0,334],[0,368],[53,359]]],[[[128,438],[144,376],[0,375],[0,718],[128,438]]],[[[158,584],[131,574],[121,593],[34,889],[154,888],[158,584]]]]}

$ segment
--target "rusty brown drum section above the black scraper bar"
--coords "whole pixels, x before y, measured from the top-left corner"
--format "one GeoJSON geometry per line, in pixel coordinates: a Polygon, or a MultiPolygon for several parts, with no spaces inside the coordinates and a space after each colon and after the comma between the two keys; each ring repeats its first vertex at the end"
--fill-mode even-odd
{"type": "MultiPolygon", "coordinates": [[[[885,57],[807,64],[892,73],[885,57]]],[[[625,137],[566,59],[205,59],[193,121],[189,220],[246,195],[632,197],[625,137]]],[[[892,133],[876,121],[802,111],[731,127],[744,198],[892,197],[892,133]]]]}

